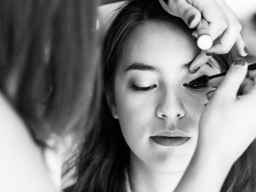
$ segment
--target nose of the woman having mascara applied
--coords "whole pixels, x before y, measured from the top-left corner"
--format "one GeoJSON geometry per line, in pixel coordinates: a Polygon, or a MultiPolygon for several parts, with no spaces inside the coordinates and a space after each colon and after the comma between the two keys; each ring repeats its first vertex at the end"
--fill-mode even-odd
{"type": "Polygon", "coordinates": [[[179,119],[185,115],[185,109],[178,92],[167,90],[159,97],[156,116],[163,119],[179,119]]]}

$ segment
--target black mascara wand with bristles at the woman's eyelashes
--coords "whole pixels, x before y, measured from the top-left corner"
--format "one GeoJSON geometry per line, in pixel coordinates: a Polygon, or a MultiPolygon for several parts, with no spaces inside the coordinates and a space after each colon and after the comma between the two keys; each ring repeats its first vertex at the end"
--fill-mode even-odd
{"type": "MultiPolygon", "coordinates": [[[[255,70],[255,69],[256,69],[256,63],[248,65],[248,70],[255,70]]],[[[207,84],[209,82],[209,80],[216,78],[216,77],[224,76],[224,75],[226,75],[226,72],[212,75],[212,76],[202,75],[202,76],[190,81],[188,83],[188,85],[192,87],[192,86],[207,84]]]]}

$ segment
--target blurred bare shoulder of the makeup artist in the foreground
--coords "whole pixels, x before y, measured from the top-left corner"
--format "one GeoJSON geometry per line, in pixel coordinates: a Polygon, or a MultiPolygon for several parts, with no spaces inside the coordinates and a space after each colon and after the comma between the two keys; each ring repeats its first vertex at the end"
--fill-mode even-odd
{"type": "Polygon", "coordinates": [[[22,118],[0,92],[0,191],[56,192],[42,151],[22,118]]]}

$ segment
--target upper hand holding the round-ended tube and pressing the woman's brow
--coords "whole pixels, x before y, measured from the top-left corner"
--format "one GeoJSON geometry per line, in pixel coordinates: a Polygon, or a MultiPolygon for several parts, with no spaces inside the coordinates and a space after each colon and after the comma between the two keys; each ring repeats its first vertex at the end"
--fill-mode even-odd
{"type": "Polygon", "coordinates": [[[226,54],[236,44],[241,56],[246,56],[248,50],[240,35],[242,29],[238,19],[225,0],[159,0],[168,13],[178,16],[188,27],[197,28],[192,34],[198,38],[209,34],[214,45],[208,50],[202,50],[190,64],[190,71],[196,72],[213,54],[226,54]]]}

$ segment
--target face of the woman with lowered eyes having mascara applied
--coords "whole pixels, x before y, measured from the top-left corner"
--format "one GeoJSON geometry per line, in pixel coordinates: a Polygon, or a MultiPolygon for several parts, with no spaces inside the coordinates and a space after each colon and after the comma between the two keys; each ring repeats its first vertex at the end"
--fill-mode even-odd
{"type": "Polygon", "coordinates": [[[112,114],[119,119],[132,161],[166,173],[188,166],[198,138],[198,121],[212,88],[183,86],[220,72],[204,65],[192,74],[199,54],[174,24],[147,22],[135,28],[122,48],[114,78],[112,114]]]}

